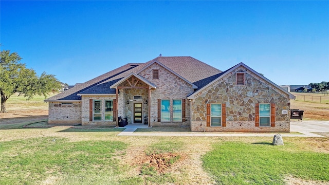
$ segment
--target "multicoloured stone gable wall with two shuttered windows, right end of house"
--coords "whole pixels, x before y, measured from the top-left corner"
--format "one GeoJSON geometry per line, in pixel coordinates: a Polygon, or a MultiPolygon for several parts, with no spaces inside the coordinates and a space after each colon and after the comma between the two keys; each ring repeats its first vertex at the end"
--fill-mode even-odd
{"type": "Polygon", "coordinates": [[[213,83],[192,100],[191,131],[198,132],[289,132],[289,96],[244,67],[213,83]],[[245,85],[236,84],[236,72],[245,72],[245,85]],[[206,125],[206,104],[226,103],[226,127],[206,125]],[[255,103],[275,103],[275,127],[255,127],[255,103]]]}

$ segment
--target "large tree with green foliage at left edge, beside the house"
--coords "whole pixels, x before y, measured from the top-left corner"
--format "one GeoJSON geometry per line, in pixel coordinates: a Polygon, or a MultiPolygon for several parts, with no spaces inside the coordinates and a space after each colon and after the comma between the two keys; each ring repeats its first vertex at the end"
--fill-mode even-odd
{"type": "Polygon", "coordinates": [[[19,93],[29,100],[34,95],[44,95],[46,98],[51,91],[61,88],[61,83],[54,75],[43,72],[38,77],[33,69],[27,69],[25,64],[20,63],[22,58],[16,52],[3,50],[0,55],[0,113],[7,112],[6,101],[14,93],[19,93]]]}

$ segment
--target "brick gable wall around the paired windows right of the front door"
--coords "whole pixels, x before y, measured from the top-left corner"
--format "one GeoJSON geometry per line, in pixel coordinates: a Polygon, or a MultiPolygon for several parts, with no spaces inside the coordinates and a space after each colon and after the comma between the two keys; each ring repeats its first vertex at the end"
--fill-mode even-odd
{"type": "Polygon", "coordinates": [[[187,95],[191,94],[194,89],[190,84],[171,73],[166,68],[163,68],[157,63],[152,64],[147,69],[138,73],[139,76],[156,85],[156,89],[151,89],[151,125],[190,125],[190,102],[186,99],[187,95]],[[159,79],[153,79],[152,70],[159,70],[159,79]],[[170,122],[157,122],[158,118],[158,99],[170,100],[170,122]],[[174,99],[186,99],[186,122],[172,121],[172,103],[174,99]]]}

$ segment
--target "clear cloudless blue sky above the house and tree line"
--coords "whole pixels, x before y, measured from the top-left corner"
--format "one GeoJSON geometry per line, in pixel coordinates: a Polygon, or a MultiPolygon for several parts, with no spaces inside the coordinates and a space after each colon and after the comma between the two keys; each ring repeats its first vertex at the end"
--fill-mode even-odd
{"type": "Polygon", "coordinates": [[[329,81],[329,1],[0,1],[1,50],[73,85],[126,63],[240,62],[278,85],[329,81]]]}

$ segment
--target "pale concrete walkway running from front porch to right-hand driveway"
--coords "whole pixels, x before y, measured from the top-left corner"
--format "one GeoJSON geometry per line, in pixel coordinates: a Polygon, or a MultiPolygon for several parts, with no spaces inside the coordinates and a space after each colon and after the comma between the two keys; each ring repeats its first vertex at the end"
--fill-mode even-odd
{"type": "MultiPolygon", "coordinates": [[[[200,133],[200,132],[135,132],[137,128],[148,128],[144,124],[128,124],[118,136],[207,136],[207,137],[273,137],[276,133],[200,133]]],[[[291,121],[290,132],[301,134],[281,134],[283,137],[324,137],[316,132],[329,133],[329,121],[291,121]]]]}

